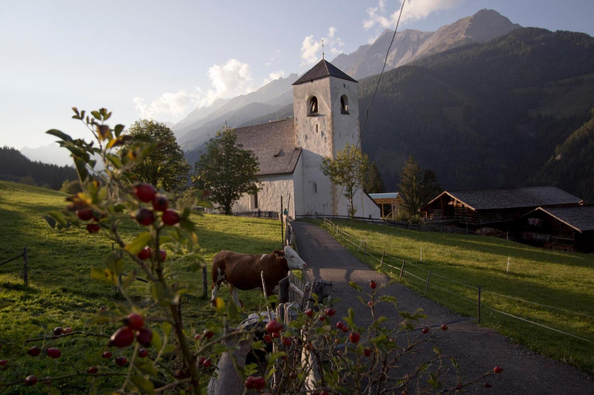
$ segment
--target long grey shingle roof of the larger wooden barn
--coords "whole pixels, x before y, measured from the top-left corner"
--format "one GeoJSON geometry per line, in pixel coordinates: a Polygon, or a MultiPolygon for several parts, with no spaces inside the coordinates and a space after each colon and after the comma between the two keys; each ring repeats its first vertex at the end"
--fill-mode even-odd
{"type": "Polygon", "coordinates": [[[570,205],[582,201],[582,199],[557,187],[539,186],[444,191],[440,193],[437,198],[431,200],[427,205],[444,194],[465,203],[465,205],[474,210],[570,205]]]}

